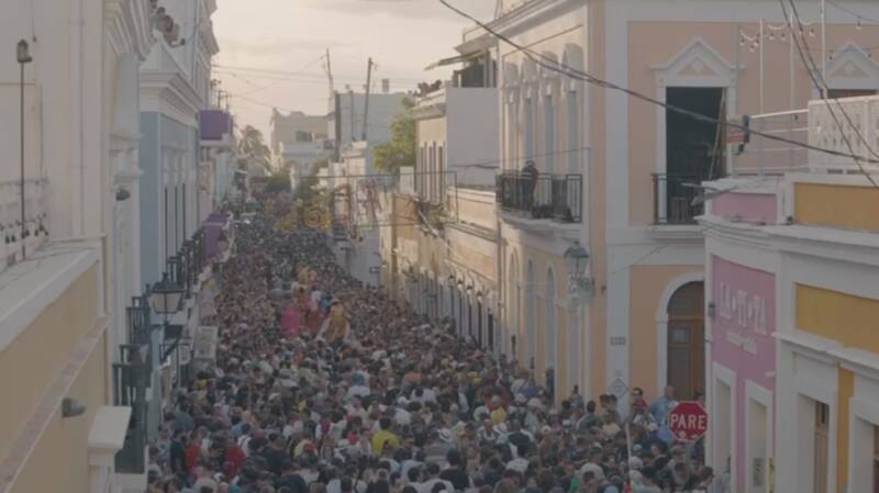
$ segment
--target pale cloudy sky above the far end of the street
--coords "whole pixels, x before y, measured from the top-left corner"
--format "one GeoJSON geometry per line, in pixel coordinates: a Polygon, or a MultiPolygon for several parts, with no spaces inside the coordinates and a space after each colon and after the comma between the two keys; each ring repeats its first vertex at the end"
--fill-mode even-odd
{"type": "MultiPolygon", "coordinates": [[[[490,20],[496,0],[452,0],[490,20]]],[[[374,90],[391,79],[392,91],[446,79],[449,69],[425,71],[455,55],[469,21],[436,0],[219,0],[213,14],[220,54],[212,77],[231,97],[241,126],[268,137],[271,108],[325,114],[330,49],[335,89],[361,91],[372,57],[374,90]]]]}

